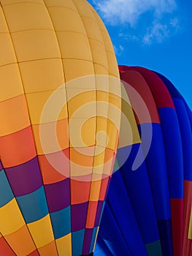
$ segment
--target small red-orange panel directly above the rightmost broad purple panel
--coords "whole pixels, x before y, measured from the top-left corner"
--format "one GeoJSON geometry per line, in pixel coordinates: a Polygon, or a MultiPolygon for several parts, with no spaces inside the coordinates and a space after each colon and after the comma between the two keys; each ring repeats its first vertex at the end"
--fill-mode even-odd
{"type": "Polygon", "coordinates": [[[71,179],[71,204],[85,203],[89,200],[90,181],[71,179]]]}

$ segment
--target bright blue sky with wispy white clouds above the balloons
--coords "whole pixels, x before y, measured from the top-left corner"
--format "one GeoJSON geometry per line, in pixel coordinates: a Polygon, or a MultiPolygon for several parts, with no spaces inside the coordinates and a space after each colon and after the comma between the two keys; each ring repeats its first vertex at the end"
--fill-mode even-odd
{"type": "Polygon", "coordinates": [[[192,109],[192,1],[88,1],[107,26],[118,64],[165,75],[192,109]]]}

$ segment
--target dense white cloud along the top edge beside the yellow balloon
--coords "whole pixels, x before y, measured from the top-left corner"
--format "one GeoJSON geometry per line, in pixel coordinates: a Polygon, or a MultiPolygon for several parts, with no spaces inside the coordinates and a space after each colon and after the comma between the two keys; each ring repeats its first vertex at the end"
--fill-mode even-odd
{"type": "Polygon", "coordinates": [[[112,25],[129,23],[131,26],[147,11],[157,18],[177,7],[175,0],[96,0],[94,4],[106,22],[112,25]]]}

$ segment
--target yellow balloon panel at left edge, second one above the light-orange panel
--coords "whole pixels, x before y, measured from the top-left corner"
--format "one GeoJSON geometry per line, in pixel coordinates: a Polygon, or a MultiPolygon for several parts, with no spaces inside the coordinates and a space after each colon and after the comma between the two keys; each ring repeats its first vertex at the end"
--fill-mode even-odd
{"type": "Polygon", "coordinates": [[[12,48],[12,40],[9,34],[0,33],[0,67],[7,64],[16,63],[14,49],[12,48]]]}

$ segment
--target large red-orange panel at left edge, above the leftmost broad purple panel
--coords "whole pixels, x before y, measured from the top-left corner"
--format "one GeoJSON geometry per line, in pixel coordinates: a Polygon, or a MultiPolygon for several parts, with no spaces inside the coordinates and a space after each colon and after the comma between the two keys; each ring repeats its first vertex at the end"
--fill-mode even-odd
{"type": "Polygon", "coordinates": [[[31,127],[1,137],[0,145],[1,162],[4,167],[21,165],[37,155],[31,127]]]}

